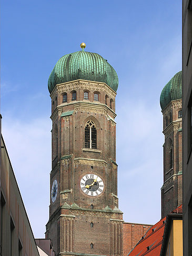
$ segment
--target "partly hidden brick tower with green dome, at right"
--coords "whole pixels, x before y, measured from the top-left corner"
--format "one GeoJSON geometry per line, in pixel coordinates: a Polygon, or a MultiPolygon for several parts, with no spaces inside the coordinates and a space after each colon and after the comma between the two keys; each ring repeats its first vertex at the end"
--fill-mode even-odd
{"type": "Polygon", "coordinates": [[[161,188],[161,218],[182,203],[182,72],[163,88],[164,184],[161,188]]]}

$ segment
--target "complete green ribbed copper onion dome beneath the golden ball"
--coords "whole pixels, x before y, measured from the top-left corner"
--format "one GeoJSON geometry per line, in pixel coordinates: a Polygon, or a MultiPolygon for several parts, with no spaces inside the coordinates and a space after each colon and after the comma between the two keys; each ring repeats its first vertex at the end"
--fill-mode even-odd
{"type": "Polygon", "coordinates": [[[49,76],[48,90],[52,93],[56,84],[78,79],[103,82],[117,91],[118,76],[114,68],[99,54],[84,49],[59,58],[49,76]]]}

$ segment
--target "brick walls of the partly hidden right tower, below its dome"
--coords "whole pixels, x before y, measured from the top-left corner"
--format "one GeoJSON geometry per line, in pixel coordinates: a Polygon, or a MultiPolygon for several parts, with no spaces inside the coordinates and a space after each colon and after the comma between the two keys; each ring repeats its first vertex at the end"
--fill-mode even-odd
{"type": "Polygon", "coordinates": [[[163,112],[164,143],[164,184],[161,189],[161,218],[182,203],[182,101],[171,101],[163,112]],[[171,119],[170,119],[170,116],[171,119]],[[166,121],[167,120],[167,121],[166,121]],[[170,155],[172,149],[172,166],[170,155]]]}

